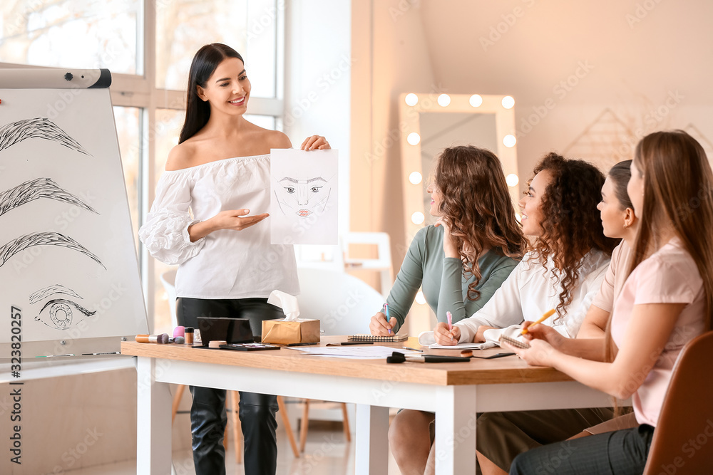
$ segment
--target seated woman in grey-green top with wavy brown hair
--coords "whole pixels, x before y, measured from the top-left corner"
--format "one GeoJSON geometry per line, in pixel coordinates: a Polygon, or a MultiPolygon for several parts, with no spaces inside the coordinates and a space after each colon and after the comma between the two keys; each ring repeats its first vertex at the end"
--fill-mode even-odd
{"type": "MultiPolygon", "coordinates": [[[[439,322],[473,315],[493,296],[523,256],[525,236],[500,160],[490,150],[458,146],[438,157],[431,194],[435,226],[416,233],[389,292],[389,322],[371,317],[372,335],[401,328],[419,287],[439,322]]],[[[426,454],[427,455],[427,454],[426,454]]]]}

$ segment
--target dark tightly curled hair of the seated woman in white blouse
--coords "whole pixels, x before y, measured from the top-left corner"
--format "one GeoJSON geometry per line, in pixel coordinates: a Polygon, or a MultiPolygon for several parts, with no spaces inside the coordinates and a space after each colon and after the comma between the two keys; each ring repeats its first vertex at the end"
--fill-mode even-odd
{"type": "Polygon", "coordinates": [[[560,271],[560,303],[558,318],[572,302],[572,292],[579,281],[580,266],[588,252],[599,249],[611,256],[619,239],[604,235],[597,204],[602,197],[604,174],[584,160],[568,160],[554,152],[545,155],[533,174],[547,171],[552,179],[545,188],[540,203],[542,234],[530,247],[547,268],[553,259],[560,271]]]}

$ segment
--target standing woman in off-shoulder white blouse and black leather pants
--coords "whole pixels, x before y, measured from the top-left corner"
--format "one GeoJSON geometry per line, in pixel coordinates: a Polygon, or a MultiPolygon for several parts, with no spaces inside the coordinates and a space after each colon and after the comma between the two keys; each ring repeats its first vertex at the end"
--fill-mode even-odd
{"type": "MultiPolygon", "coordinates": [[[[299,293],[292,246],[271,245],[265,220],[270,206],[270,149],[292,145],[282,132],[243,117],[250,80],[237,51],[203,46],[190,66],[186,117],[171,150],[156,198],[139,230],[150,254],[179,264],[178,323],[198,327],[198,317],[280,318],[267,303],[274,290],[299,293]],[[252,213],[252,214],[251,214],[252,213]]],[[[302,150],[328,149],[313,135],[302,150]]],[[[196,474],[225,474],[225,390],[190,387],[196,474]]],[[[275,396],[240,392],[245,472],[275,474],[275,396]]]]}

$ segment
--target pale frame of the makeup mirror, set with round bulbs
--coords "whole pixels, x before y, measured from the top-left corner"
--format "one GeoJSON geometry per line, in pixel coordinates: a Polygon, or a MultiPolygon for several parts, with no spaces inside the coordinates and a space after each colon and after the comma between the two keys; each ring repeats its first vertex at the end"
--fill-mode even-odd
{"type": "MultiPolygon", "coordinates": [[[[520,199],[520,185],[518,175],[518,157],[517,157],[517,140],[515,139],[515,107],[512,96],[508,95],[479,95],[482,98],[482,103],[478,106],[471,105],[471,97],[475,94],[448,94],[450,103],[441,106],[438,103],[438,98],[441,95],[435,93],[403,93],[399,95],[399,125],[401,129],[401,186],[403,192],[404,203],[404,229],[406,231],[406,248],[411,244],[416,233],[425,225],[424,221],[415,224],[411,217],[415,212],[425,213],[424,209],[424,180],[428,179],[424,176],[421,159],[421,141],[416,145],[409,144],[409,135],[413,132],[421,135],[421,113],[473,113],[473,114],[495,114],[496,120],[496,135],[498,150],[493,152],[498,155],[503,166],[503,172],[506,177],[510,174],[515,174],[518,177],[518,183],[510,186],[510,196],[515,204],[515,212],[519,216],[518,201],[520,199]],[[415,94],[418,102],[415,105],[406,103],[406,96],[415,94]],[[503,106],[503,99],[510,98],[513,103],[511,108],[503,106]],[[515,144],[512,147],[506,147],[503,140],[507,135],[511,135],[511,140],[515,139],[515,144]],[[414,184],[411,183],[409,177],[412,173],[418,172],[421,174],[421,181],[414,184]]],[[[477,145],[477,144],[473,144],[477,145]]],[[[426,170],[426,173],[428,170],[426,170]]],[[[411,307],[409,313],[409,334],[418,335],[421,330],[431,330],[429,324],[428,306],[417,305],[411,307]],[[419,308],[426,307],[422,310],[419,308]]]]}

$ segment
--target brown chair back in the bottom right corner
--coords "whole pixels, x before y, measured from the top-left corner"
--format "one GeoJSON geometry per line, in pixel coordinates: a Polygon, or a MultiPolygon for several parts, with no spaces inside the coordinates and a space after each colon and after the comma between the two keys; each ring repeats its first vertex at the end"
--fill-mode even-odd
{"type": "Polygon", "coordinates": [[[644,475],[713,473],[713,331],[691,340],[674,366],[644,475]]]}

